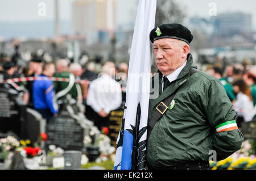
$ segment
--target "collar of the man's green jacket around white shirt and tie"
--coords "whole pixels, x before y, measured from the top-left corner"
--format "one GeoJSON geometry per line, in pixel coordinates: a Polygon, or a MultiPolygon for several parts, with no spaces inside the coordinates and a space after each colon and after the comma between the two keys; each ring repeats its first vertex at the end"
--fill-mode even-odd
{"type": "MultiPolygon", "coordinates": [[[[183,83],[188,81],[189,79],[189,69],[191,68],[193,64],[193,57],[189,53],[187,57],[187,64],[185,67],[181,70],[179,76],[177,79],[173,82],[171,82],[170,86],[166,87],[166,89],[163,91],[163,94],[160,94],[162,92],[162,76],[163,74],[158,70],[159,73],[159,96],[156,99],[151,99],[151,105],[154,107],[156,104],[161,102],[163,99],[167,98],[167,96],[171,95],[177,88],[179,88],[183,83]]],[[[168,105],[167,105],[168,106],[168,105]]]]}

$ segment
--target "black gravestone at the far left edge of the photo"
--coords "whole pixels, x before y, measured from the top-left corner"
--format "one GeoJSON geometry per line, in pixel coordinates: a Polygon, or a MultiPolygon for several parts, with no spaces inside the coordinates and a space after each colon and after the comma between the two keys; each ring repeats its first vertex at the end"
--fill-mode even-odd
{"type": "Polygon", "coordinates": [[[25,104],[19,98],[19,92],[8,87],[0,87],[0,132],[14,132],[23,137],[25,104]]]}

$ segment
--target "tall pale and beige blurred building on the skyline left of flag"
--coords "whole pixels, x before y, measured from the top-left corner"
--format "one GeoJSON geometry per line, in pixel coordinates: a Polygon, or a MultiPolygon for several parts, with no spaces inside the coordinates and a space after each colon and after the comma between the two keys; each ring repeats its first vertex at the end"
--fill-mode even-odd
{"type": "Polygon", "coordinates": [[[115,0],[83,0],[72,3],[72,31],[86,35],[88,44],[108,41],[117,29],[115,0]]]}

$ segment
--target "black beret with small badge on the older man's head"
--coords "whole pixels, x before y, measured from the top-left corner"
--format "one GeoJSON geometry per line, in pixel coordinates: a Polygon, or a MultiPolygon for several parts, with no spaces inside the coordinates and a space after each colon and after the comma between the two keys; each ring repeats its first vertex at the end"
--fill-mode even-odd
{"type": "Polygon", "coordinates": [[[178,23],[161,24],[150,32],[150,41],[152,43],[154,43],[155,40],[165,38],[179,39],[189,44],[193,39],[193,35],[188,28],[178,23]]]}

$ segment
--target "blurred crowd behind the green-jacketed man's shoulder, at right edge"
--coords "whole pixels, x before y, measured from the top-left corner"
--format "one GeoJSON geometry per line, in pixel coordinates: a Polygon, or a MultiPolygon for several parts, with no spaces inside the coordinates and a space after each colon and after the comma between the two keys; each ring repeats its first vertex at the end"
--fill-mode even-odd
{"type": "Polygon", "coordinates": [[[233,64],[210,65],[206,73],[216,77],[224,86],[226,94],[237,111],[237,125],[256,119],[256,66],[233,64]]]}

